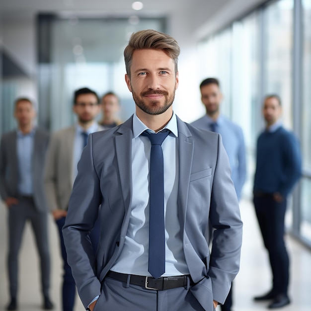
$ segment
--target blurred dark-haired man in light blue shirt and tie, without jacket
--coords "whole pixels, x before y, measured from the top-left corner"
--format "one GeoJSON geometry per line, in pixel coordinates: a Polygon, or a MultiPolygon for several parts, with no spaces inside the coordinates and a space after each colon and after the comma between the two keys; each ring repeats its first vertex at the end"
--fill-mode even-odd
{"type": "MultiPolygon", "coordinates": [[[[206,109],[206,115],[194,121],[193,126],[221,134],[223,144],[229,157],[231,178],[234,183],[237,198],[240,199],[241,191],[246,177],[246,156],[242,129],[220,113],[220,103],[223,95],[220,90],[219,80],[207,78],[200,84],[201,100],[206,109]]],[[[232,289],[229,292],[222,311],[231,311],[232,289]]]]}

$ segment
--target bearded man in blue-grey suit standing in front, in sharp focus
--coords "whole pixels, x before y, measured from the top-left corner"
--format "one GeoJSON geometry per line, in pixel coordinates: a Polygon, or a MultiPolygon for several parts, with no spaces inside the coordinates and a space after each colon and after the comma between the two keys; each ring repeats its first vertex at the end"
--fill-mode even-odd
{"type": "Polygon", "coordinates": [[[78,164],[63,233],[87,310],[213,311],[238,272],[242,223],[221,136],[182,122],[172,109],[179,52],[166,34],[132,34],[125,80],[136,112],[92,134],[78,164]],[[94,256],[87,236],[97,217],[94,256]]]}

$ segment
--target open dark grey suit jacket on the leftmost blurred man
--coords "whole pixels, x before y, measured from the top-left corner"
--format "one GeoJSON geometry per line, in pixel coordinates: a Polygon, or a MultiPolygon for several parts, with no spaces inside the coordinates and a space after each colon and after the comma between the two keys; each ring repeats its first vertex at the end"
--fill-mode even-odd
{"type": "MultiPolygon", "coordinates": [[[[18,160],[16,151],[17,132],[4,134],[0,145],[0,194],[2,200],[18,196],[18,160]]],[[[39,212],[47,211],[43,189],[43,169],[46,150],[49,144],[49,133],[36,129],[32,156],[33,197],[39,212]]]]}

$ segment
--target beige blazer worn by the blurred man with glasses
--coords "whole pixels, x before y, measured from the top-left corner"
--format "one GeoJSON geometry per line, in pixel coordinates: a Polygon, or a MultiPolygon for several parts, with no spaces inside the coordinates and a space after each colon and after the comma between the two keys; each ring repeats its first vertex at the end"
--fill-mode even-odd
{"type": "MultiPolygon", "coordinates": [[[[98,126],[98,131],[102,127],[98,126]]],[[[52,135],[44,169],[44,189],[51,211],[67,210],[73,190],[73,159],[76,126],[52,135]]]]}

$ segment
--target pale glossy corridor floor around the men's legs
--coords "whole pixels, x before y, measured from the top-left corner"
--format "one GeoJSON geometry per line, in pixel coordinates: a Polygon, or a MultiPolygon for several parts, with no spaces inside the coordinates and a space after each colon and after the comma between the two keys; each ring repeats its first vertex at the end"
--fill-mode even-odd
{"type": "MultiPolygon", "coordinates": [[[[261,236],[255,219],[252,204],[242,200],[241,216],[244,223],[243,246],[240,272],[234,280],[233,311],[267,310],[267,303],[254,303],[252,297],[267,292],[270,288],[270,270],[268,257],[263,248],[261,236]]],[[[6,277],[7,227],[6,210],[0,206],[0,310],[8,302],[6,277]]],[[[52,254],[51,298],[55,311],[60,309],[61,260],[56,226],[49,218],[50,249],[52,254]]],[[[283,311],[311,310],[311,250],[302,246],[295,239],[287,236],[287,245],[291,258],[290,298],[292,304],[283,311]]],[[[26,226],[20,253],[19,271],[19,310],[41,310],[38,256],[30,226],[26,226]]],[[[75,311],[82,311],[78,296],[75,311]]],[[[220,307],[217,308],[220,310],[220,307]]],[[[146,311],[148,311],[146,309],[146,311]]]]}

